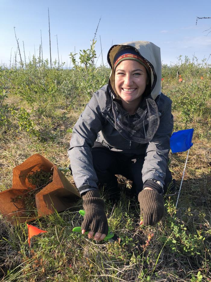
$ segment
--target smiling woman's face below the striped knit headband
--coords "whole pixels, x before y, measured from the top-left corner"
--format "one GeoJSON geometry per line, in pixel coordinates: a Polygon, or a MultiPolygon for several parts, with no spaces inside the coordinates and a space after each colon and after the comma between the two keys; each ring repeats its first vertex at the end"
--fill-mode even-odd
{"type": "Polygon", "coordinates": [[[125,102],[137,102],[148,84],[145,67],[134,60],[124,60],[115,70],[115,88],[118,95],[125,102]]]}

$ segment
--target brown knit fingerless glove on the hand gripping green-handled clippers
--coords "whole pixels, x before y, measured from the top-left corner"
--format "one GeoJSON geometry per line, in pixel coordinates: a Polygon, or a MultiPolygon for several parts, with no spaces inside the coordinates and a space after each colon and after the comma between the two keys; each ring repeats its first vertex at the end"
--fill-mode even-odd
{"type": "Polygon", "coordinates": [[[104,201],[100,199],[99,190],[89,190],[82,195],[85,216],[81,230],[108,234],[109,226],[104,211],[104,201]]]}

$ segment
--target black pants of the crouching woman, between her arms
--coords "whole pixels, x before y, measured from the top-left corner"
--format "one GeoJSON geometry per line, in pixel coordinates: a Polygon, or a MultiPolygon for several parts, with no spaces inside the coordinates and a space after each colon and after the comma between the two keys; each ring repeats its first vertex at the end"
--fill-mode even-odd
{"type": "MultiPolygon", "coordinates": [[[[95,142],[92,148],[93,166],[96,171],[99,183],[112,183],[117,188],[117,178],[115,174],[121,174],[133,181],[131,190],[138,194],[143,189],[142,167],[145,155],[139,155],[136,158],[128,157],[124,154],[110,151],[102,146],[101,143],[95,142]]],[[[166,168],[165,185],[163,186],[164,194],[168,185],[172,181],[172,174],[168,167],[166,168]]],[[[175,180],[173,180],[175,185],[175,180]]]]}

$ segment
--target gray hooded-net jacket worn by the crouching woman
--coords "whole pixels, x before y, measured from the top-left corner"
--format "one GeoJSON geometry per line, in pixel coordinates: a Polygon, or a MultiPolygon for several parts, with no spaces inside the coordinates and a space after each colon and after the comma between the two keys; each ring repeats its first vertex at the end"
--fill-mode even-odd
{"type": "MultiPolygon", "coordinates": [[[[143,46],[146,47],[146,41],[138,42],[140,42],[140,45],[144,42],[143,46]]],[[[135,43],[137,47],[137,42],[135,43]]],[[[127,44],[133,46],[132,43],[127,44]]],[[[149,44],[152,43],[149,42],[149,44]]],[[[153,44],[154,46],[156,45],[153,44]]],[[[152,57],[152,54],[150,56],[152,57]]],[[[146,59],[149,60],[149,58],[146,59]]],[[[159,62],[159,60],[160,57],[157,61],[159,62]]],[[[160,84],[161,63],[159,70],[155,68],[155,73],[156,71],[157,73],[159,72],[159,75],[157,75],[159,82],[157,83],[160,84]]],[[[153,73],[154,76],[156,75],[155,73],[153,73]]],[[[73,128],[68,156],[71,161],[73,178],[79,192],[83,193],[92,190],[93,188],[90,186],[97,188],[96,183],[98,179],[92,161],[92,147],[95,141],[101,142],[103,146],[109,148],[111,151],[127,154],[134,158],[140,154],[145,154],[142,168],[143,183],[153,178],[164,185],[168,153],[170,150],[169,140],[173,130],[171,99],[161,92],[155,93],[154,91],[152,97],[159,111],[159,127],[149,143],[140,144],[123,138],[115,129],[115,124],[112,124],[112,113],[108,113],[107,111],[109,101],[114,98],[114,92],[110,90],[110,87],[110,85],[108,86],[106,84],[93,94],[93,97],[88,102],[73,128]]],[[[159,91],[160,86],[156,85],[154,87],[155,89],[159,91]]]]}

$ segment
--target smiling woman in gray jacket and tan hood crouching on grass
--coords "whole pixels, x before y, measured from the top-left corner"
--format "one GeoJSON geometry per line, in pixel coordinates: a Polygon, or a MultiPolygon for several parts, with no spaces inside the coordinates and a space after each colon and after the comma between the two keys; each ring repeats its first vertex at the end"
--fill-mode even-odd
{"type": "MultiPolygon", "coordinates": [[[[108,52],[109,83],[93,94],[73,128],[68,155],[86,211],[81,228],[102,240],[108,233],[98,183],[118,190],[115,174],[133,181],[140,224],[154,225],[164,214],[162,194],[172,176],[167,167],[173,130],[172,101],[161,93],[160,48],[136,41],[108,52]]],[[[114,193],[115,195],[115,193],[114,193]]]]}

